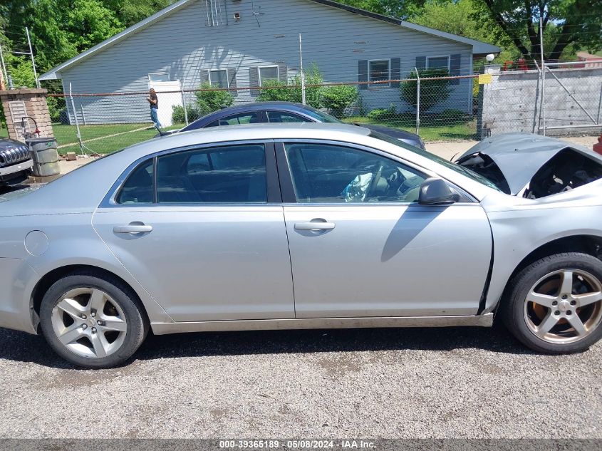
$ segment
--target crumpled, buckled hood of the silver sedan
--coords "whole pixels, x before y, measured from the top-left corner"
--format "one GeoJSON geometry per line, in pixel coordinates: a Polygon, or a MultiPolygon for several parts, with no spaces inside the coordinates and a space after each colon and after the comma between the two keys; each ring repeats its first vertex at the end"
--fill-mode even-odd
{"type": "Polygon", "coordinates": [[[507,133],[485,138],[455,160],[510,195],[538,198],[602,178],[602,155],[556,138],[507,133]],[[526,190],[525,190],[526,188],[526,190]]]}

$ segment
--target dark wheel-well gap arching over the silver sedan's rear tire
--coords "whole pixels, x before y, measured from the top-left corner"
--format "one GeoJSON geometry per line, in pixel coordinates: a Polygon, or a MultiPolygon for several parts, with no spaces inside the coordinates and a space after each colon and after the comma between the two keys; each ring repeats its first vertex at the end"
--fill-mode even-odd
{"type": "Polygon", "coordinates": [[[111,271],[107,271],[106,269],[98,268],[97,266],[90,266],[85,264],[74,264],[68,266],[62,266],[61,268],[53,269],[48,274],[43,276],[36,287],[33,289],[33,293],[31,294],[31,321],[33,323],[33,327],[36,328],[38,333],[40,332],[40,306],[42,304],[42,299],[46,294],[46,291],[58,280],[63,279],[63,277],[68,276],[69,274],[79,274],[82,272],[92,273],[98,277],[109,277],[111,279],[118,279],[122,284],[124,284],[129,290],[130,295],[140,304],[140,308],[142,309],[142,314],[148,318],[146,309],[142,301],[140,300],[140,296],[137,295],[136,291],[126,282],[121,279],[120,276],[113,274],[111,271]]]}

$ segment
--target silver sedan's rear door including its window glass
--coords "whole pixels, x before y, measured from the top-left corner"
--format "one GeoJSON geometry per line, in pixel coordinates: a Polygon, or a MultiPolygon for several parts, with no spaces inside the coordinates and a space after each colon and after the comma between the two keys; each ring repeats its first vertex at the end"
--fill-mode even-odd
{"type": "Polygon", "coordinates": [[[93,216],[123,266],[175,321],[294,318],[273,143],[140,162],[93,216]]]}

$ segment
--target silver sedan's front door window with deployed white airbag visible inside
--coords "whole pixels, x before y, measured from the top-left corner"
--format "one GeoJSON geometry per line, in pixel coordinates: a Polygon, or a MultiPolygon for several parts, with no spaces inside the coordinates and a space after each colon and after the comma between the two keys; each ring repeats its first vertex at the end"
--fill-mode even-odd
{"type": "Polygon", "coordinates": [[[298,202],[417,202],[427,178],[352,147],[294,143],[285,148],[298,202]]]}

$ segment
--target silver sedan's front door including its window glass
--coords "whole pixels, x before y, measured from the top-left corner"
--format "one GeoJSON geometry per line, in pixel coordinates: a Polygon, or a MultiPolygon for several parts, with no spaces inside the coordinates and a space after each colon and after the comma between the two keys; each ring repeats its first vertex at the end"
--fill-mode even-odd
{"type": "Polygon", "coordinates": [[[428,175],[373,150],[276,146],[297,318],[477,312],[492,256],[479,203],[422,206],[428,175]]]}

